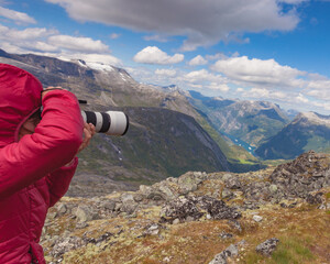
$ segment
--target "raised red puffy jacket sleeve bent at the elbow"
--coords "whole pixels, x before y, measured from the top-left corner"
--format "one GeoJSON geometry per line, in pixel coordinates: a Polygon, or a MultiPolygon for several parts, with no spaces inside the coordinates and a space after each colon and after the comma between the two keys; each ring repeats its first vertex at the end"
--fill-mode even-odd
{"type": "Polygon", "coordinates": [[[82,142],[82,130],[77,98],[66,90],[47,92],[34,133],[0,150],[0,198],[69,163],[82,142]]]}

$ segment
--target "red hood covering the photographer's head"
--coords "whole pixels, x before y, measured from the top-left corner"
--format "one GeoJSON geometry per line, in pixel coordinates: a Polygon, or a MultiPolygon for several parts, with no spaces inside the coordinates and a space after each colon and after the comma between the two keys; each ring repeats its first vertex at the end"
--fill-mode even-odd
{"type": "Polygon", "coordinates": [[[0,147],[18,141],[23,122],[42,106],[42,90],[32,74],[0,64],[0,147]]]}

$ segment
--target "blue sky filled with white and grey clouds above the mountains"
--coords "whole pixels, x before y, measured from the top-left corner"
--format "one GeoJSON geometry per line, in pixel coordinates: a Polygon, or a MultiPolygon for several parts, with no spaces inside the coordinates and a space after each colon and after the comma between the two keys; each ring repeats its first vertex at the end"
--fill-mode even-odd
{"type": "Polygon", "coordinates": [[[0,0],[0,48],[330,114],[330,0],[0,0]]]}

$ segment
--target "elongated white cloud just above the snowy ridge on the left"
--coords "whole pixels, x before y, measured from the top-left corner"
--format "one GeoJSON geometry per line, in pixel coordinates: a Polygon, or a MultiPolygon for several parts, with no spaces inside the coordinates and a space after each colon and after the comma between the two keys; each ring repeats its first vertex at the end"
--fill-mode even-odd
{"type": "Polygon", "coordinates": [[[48,42],[58,47],[76,52],[105,53],[109,51],[109,47],[101,41],[94,41],[90,37],[54,35],[48,38],[48,42]]]}

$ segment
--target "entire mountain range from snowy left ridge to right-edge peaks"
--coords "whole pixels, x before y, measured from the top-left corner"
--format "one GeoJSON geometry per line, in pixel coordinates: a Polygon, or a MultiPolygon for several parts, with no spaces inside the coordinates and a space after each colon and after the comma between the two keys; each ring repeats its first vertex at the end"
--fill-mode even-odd
{"type": "Polygon", "coordinates": [[[65,62],[0,50],[0,63],[26,69],[44,87],[62,86],[78,99],[87,99],[84,110],[130,114],[125,136],[98,134],[80,154],[70,195],[135,189],[187,170],[255,170],[264,166],[258,158],[330,151],[329,117],[318,113],[294,118],[297,111],[268,101],[211,98],[175,85],[140,84],[122,68],[80,59],[65,62]],[[246,143],[248,151],[237,141],[246,143]]]}

